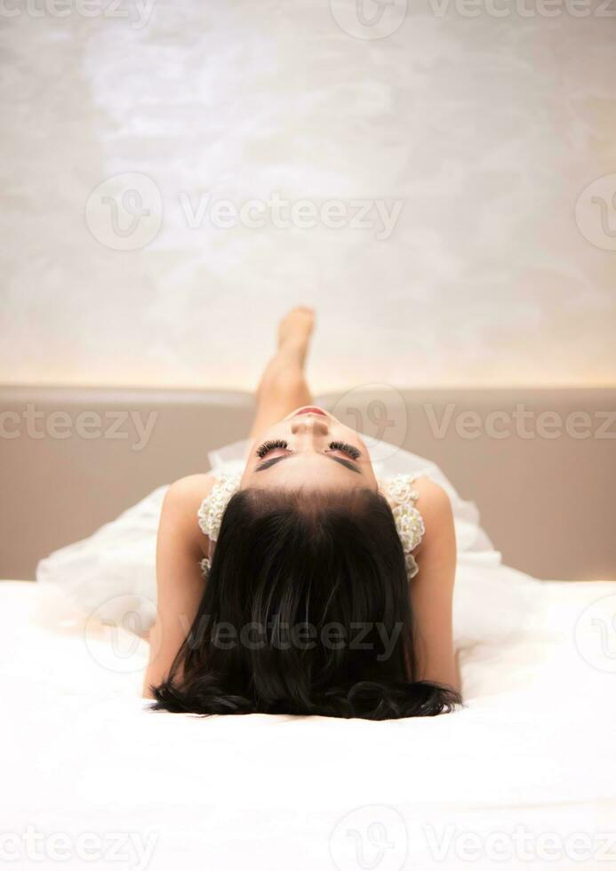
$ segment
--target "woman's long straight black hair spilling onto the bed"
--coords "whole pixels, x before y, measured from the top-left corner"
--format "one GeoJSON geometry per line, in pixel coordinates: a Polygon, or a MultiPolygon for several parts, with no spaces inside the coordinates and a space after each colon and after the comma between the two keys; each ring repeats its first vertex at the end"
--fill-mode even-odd
{"type": "Polygon", "coordinates": [[[404,552],[370,490],[236,493],[155,708],[384,720],[460,702],[415,680],[404,552]]]}

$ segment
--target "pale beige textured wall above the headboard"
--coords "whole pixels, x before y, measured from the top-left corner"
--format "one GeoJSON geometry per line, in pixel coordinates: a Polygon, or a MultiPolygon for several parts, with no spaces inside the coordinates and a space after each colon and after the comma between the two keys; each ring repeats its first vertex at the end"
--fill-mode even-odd
{"type": "Polygon", "coordinates": [[[616,6],[460,3],[5,4],[0,380],[251,388],[301,300],[320,390],[613,384],[616,6]],[[399,215],[189,226],[274,191],[399,215]]]}

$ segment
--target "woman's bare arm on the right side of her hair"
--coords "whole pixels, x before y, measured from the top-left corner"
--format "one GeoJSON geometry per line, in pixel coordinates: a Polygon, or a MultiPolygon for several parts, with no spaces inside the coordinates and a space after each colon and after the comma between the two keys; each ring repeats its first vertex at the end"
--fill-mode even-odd
{"type": "Polygon", "coordinates": [[[419,572],[411,581],[417,677],[460,690],[453,651],[452,602],[456,539],[447,493],[429,478],[415,484],[426,532],[414,554],[419,572]]]}

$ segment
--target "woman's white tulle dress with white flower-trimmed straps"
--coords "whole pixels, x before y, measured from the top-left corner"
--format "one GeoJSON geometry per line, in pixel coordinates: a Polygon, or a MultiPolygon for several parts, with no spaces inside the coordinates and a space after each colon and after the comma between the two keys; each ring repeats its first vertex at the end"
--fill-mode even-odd
{"type": "MultiPolygon", "coordinates": [[[[403,542],[409,575],[416,565],[412,549],[417,547],[423,532],[417,494],[412,481],[427,475],[440,484],[452,502],[459,562],[465,556],[481,555],[482,562],[498,564],[500,555],[479,525],[476,506],[460,499],[452,483],[433,462],[388,443],[364,436],[370,451],[374,473],[392,493],[390,502],[403,542]]],[[[220,525],[220,508],[224,507],[235,489],[238,475],[244,469],[249,443],[234,442],[211,451],[208,455],[211,472],[221,486],[222,499],[204,500],[195,522],[212,538],[220,525]],[[227,482],[225,484],[224,482],[227,482]]],[[[216,488],[215,488],[216,490],[216,488]]],[[[124,511],[110,523],[101,526],[89,538],[62,547],[38,563],[36,579],[59,587],[81,609],[106,620],[124,619],[131,611],[140,618],[140,629],[151,626],[156,615],[156,531],[167,486],[158,487],[137,505],[124,511]]]]}

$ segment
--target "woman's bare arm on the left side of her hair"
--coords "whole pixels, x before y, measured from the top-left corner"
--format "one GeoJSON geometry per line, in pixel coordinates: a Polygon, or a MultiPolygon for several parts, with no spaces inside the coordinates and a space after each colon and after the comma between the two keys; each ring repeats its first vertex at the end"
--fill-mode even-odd
{"type": "Polygon", "coordinates": [[[156,622],[149,635],[143,694],[162,683],[188,635],[204,592],[200,562],[209,539],[199,528],[197,511],[212,490],[212,475],[190,475],[172,483],[164,497],[156,539],[156,622]]]}

